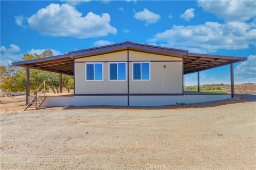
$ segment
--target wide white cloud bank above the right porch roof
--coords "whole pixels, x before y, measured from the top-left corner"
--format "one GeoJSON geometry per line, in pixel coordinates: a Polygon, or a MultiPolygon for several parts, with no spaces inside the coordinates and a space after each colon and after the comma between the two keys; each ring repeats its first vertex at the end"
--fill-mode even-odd
{"type": "Polygon", "coordinates": [[[194,53],[212,53],[219,49],[243,49],[255,45],[255,22],[205,22],[199,25],[177,26],[157,33],[149,43],[188,49],[194,53]]]}

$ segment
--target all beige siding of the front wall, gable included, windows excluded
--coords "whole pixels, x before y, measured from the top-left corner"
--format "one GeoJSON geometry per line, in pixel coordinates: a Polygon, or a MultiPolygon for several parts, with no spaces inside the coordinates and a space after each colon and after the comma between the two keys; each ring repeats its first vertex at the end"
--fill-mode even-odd
{"type": "MultiPolygon", "coordinates": [[[[182,94],[182,58],[132,50],[129,50],[129,58],[130,61],[157,61],[150,62],[150,81],[132,81],[132,62],[130,62],[130,94],[182,94]],[[165,69],[164,65],[166,65],[165,69]]],[[[127,94],[127,80],[109,81],[108,62],[113,61],[127,61],[127,50],[76,59],[75,93],[127,94]],[[86,62],[103,62],[103,81],[85,81],[86,62]]]]}

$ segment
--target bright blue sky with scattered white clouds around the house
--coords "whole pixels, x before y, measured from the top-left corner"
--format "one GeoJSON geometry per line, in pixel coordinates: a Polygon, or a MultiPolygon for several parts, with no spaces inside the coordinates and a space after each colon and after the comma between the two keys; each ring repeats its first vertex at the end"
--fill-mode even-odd
{"type": "MultiPolygon", "coordinates": [[[[254,1],[1,1],[1,65],[24,53],[133,41],[191,53],[249,57],[235,83],[256,82],[254,1]]],[[[196,74],[185,75],[196,85],[196,74]]],[[[230,83],[229,66],[201,72],[201,84],[230,83]]]]}

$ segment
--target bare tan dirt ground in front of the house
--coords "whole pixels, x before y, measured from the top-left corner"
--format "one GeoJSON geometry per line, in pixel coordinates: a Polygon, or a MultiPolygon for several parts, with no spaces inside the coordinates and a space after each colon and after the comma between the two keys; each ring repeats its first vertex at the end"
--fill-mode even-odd
{"type": "Polygon", "coordinates": [[[256,169],[256,102],[204,106],[1,114],[1,169],[256,169]]]}

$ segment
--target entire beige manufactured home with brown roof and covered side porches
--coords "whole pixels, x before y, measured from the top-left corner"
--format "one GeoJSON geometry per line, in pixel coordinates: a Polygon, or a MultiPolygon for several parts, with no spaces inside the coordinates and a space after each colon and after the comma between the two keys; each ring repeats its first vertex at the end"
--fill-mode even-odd
{"type": "Polygon", "coordinates": [[[245,57],[195,54],[183,49],[126,41],[59,56],[14,62],[12,65],[26,67],[27,106],[33,106],[35,100],[38,107],[160,106],[233,97],[233,63],[245,60],[245,57]],[[199,91],[199,72],[223,65],[230,65],[231,94],[199,91]],[[73,75],[74,94],[39,99],[42,91],[37,91],[36,95],[30,96],[30,69],[60,73],[60,88],[61,74],[73,75]],[[198,73],[198,91],[184,91],[184,75],[194,72],[198,73]]]}

